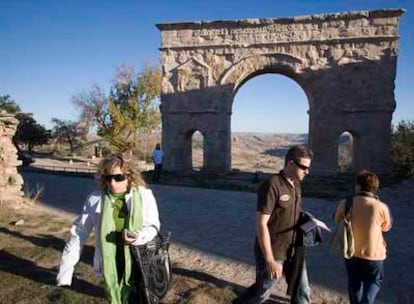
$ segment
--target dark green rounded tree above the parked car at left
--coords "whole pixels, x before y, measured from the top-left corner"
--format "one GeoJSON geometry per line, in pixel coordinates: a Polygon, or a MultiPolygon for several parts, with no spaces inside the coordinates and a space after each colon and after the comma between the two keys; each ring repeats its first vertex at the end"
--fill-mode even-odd
{"type": "Polygon", "coordinates": [[[38,124],[30,114],[17,113],[16,118],[19,120],[19,125],[13,141],[18,150],[21,150],[20,145],[27,145],[27,149],[32,152],[34,146],[48,142],[50,131],[38,124]]]}

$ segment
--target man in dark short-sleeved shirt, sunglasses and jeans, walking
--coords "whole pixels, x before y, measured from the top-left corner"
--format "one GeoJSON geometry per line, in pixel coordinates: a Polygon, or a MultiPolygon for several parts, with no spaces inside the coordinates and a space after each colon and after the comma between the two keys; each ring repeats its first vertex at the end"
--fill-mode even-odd
{"type": "Polygon", "coordinates": [[[302,209],[300,182],[309,174],[313,153],[302,145],[286,154],[279,174],[266,180],[257,192],[256,282],[233,304],[264,303],[284,274],[291,303],[310,303],[310,287],[304,257],[295,250],[296,227],[302,209]]]}

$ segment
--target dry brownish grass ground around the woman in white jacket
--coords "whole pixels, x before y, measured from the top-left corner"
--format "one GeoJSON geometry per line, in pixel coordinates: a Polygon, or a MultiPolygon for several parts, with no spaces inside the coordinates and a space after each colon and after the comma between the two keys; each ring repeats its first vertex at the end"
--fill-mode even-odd
{"type": "MultiPolygon", "coordinates": [[[[88,239],[75,268],[72,286],[55,286],[70,219],[51,216],[35,205],[23,204],[15,209],[4,204],[0,209],[0,224],[0,303],[108,303],[92,269],[92,238],[88,239]]],[[[172,286],[162,303],[225,304],[235,297],[230,287],[193,278],[191,271],[188,275],[177,273],[175,267],[184,266],[173,264],[172,286]]]]}

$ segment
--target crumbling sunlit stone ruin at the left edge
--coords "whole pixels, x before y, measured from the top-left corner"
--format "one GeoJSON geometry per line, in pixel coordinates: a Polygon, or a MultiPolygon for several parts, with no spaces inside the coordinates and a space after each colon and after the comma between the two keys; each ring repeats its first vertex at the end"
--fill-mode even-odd
{"type": "Polygon", "coordinates": [[[22,201],[23,178],[17,172],[21,161],[17,160],[17,149],[13,144],[19,121],[12,114],[0,112],[0,201],[15,203],[22,201]]]}

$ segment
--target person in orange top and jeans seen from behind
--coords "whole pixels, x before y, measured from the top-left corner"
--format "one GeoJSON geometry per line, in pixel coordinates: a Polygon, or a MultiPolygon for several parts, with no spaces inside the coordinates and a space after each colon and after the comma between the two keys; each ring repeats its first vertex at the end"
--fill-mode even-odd
{"type": "MultiPolygon", "coordinates": [[[[351,210],[355,253],[345,260],[348,273],[348,293],[351,304],[372,304],[384,278],[386,243],[382,233],[391,229],[392,220],[386,204],[375,193],[379,178],[363,170],[356,177],[357,193],[351,210]]],[[[338,204],[335,221],[344,218],[345,200],[338,204]]]]}

